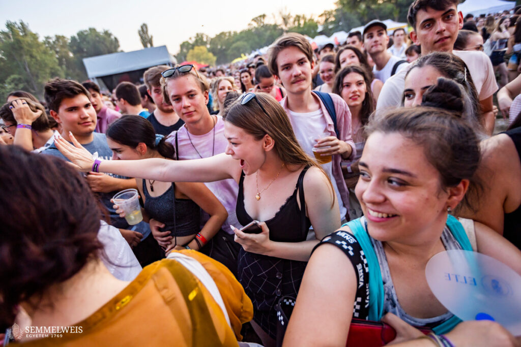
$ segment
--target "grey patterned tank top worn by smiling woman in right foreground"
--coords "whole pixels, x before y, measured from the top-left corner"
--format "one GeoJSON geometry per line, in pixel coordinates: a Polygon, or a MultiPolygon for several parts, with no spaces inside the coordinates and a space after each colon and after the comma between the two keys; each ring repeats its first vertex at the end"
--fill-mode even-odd
{"type": "MultiPolygon", "coordinates": [[[[365,217],[362,218],[364,219],[363,224],[366,225],[365,217]]],[[[387,263],[387,256],[383,250],[383,245],[380,241],[375,240],[372,237],[370,237],[370,239],[371,243],[373,243],[373,248],[375,249],[375,253],[378,258],[378,264],[380,265],[380,271],[382,274],[384,292],[383,314],[391,312],[410,325],[424,327],[438,326],[453,316],[452,313],[446,312],[437,317],[416,318],[405,313],[405,311],[402,309],[402,306],[400,306],[400,303],[398,302],[398,297],[396,296],[396,291],[394,290],[394,284],[392,282],[391,272],[389,271],[389,264],[387,263]]],[[[443,233],[441,234],[441,241],[443,242],[443,246],[446,250],[462,249],[446,225],[443,229],[443,233]]]]}

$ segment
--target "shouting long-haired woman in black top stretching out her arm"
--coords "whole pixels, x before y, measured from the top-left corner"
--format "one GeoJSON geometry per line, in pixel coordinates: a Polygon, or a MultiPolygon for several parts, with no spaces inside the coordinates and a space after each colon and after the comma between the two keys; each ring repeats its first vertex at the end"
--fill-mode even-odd
{"type": "MultiPolygon", "coordinates": [[[[275,304],[283,295],[296,295],[304,268],[317,245],[340,225],[331,182],[300,148],[291,123],[278,102],[249,93],[224,114],[226,154],[198,160],[159,158],[96,162],[109,171],[162,182],[210,182],[233,178],[239,183],[237,217],[246,225],[261,222],[260,234],[235,226],[239,280],[255,308],[256,332],[265,345],[276,336],[275,304]],[[315,240],[306,240],[313,226],[315,240]]],[[[59,148],[82,171],[95,163],[80,144],[57,140],[59,148]]]]}

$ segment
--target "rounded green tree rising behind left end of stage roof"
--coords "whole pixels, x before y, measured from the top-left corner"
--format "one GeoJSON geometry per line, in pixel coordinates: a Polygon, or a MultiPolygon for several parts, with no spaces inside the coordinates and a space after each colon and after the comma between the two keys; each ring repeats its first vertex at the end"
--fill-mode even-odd
{"type": "Polygon", "coordinates": [[[108,30],[99,32],[89,28],[71,36],[69,49],[75,56],[77,69],[86,75],[83,58],[116,53],[119,50],[119,41],[108,30]]]}

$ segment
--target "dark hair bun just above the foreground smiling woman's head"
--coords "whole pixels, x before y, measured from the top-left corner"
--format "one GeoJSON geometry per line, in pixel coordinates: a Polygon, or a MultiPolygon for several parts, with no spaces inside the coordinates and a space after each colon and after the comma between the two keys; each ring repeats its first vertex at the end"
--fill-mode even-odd
{"type": "Polygon", "coordinates": [[[421,106],[441,108],[456,113],[461,117],[464,109],[461,86],[443,77],[425,91],[421,106]]]}

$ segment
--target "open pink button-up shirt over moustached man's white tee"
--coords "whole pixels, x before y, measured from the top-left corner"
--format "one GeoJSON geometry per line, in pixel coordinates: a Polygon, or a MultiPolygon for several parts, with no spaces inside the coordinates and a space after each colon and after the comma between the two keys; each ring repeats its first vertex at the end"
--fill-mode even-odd
{"type": "MultiPolygon", "coordinates": [[[[322,113],[324,114],[324,118],[326,119],[327,123],[327,130],[331,133],[331,136],[337,136],[337,134],[334,132],[334,124],[333,119],[329,115],[326,106],[322,103],[322,100],[318,96],[316,96],[314,93],[312,93],[315,100],[320,102],[320,109],[322,110],[322,113]]],[[[340,139],[344,141],[346,144],[350,145],[353,151],[351,152],[351,156],[347,160],[353,160],[356,156],[356,147],[353,141],[353,138],[351,137],[351,112],[349,111],[348,104],[345,103],[344,99],[342,99],[337,94],[329,93],[331,98],[333,99],[333,105],[334,110],[337,113],[337,128],[338,132],[340,134],[340,139]]],[[[288,109],[288,97],[284,97],[282,100],[280,100],[280,105],[284,108],[284,111],[286,111],[286,114],[289,115],[289,109],[288,109]]],[[[288,116],[289,117],[289,116],[288,116]]],[[[290,117],[291,120],[291,117],[290,117]]],[[[293,126],[298,126],[297,124],[292,124],[293,126]]],[[[306,139],[304,139],[305,141],[306,139]]],[[[307,153],[309,156],[314,158],[313,153],[307,153]]],[[[344,181],[344,175],[342,174],[342,169],[340,166],[340,162],[342,161],[342,157],[340,155],[334,155],[332,160],[332,169],[333,169],[333,177],[335,181],[337,182],[337,187],[340,192],[340,196],[342,197],[342,202],[344,203],[344,206],[346,208],[349,208],[349,191],[348,187],[345,185],[344,181]]],[[[342,218],[344,216],[341,216],[342,218]]]]}

